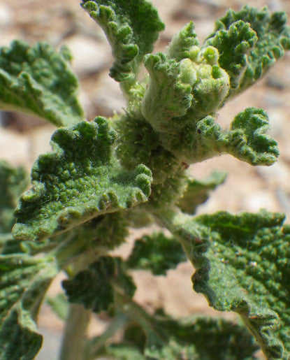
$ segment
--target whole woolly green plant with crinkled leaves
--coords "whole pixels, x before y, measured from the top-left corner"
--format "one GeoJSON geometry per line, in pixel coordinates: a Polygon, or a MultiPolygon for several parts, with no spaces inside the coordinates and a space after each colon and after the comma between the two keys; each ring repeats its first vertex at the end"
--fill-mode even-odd
{"type": "Polygon", "coordinates": [[[21,194],[27,187],[22,168],[0,164],[1,359],[36,356],[38,310],[61,270],[68,275],[66,296],[50,303],[67,322],[62,359],[254,359],[259,347],[268,359],[288,359],[290,227],[284,215],[195,216],[224,174],[201,181],[187,173],[189,164],[219,154],[252,165],[276,161],[263,110],[247,108],[229,130],[215,117],[289,50],[285,14],[229,10],[203,44],[189,22],[164,52],[151,54],[164,24],[147,0],[83,0],[82,7],[112,47],[110,76],[126,97],[124,113],[82,121],[66,48],[14,41],[0,52],[1,108],[59,126],[52,152],[32,168],[28,191],[21,194]],[[139,80],[142,63],[148,74],[139,80]],[[126,260],[110,255],[129,226],[152,222],[171,235],[143,236],[126,260]],[[240,324],[197,315],[178,320],[162,309],[150,314],[133,300],[131,271],[164,275],[186,259],[196,268],[194,290],[216,310],[236,312],[240,324]],[[89,312],[75,305],[67,312],[65,301],[106,312],[108,329],[87,340],[89,312]],[[122,342],[115,343],[119,329],[122,342]]]}

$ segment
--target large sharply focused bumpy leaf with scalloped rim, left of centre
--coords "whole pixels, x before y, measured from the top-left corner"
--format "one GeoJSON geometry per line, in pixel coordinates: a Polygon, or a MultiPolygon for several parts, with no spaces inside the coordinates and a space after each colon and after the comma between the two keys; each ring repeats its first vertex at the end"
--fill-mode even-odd
{"type": "Polygon", "coordinates": [[[115,131],[108,120],[79,122],[52,135],[52,152],[36,160],[33,187],[15,210],[13,236],[43,240],[104,213],[147,201],[150,170],[122,168],[113,155],[115,131]]]}

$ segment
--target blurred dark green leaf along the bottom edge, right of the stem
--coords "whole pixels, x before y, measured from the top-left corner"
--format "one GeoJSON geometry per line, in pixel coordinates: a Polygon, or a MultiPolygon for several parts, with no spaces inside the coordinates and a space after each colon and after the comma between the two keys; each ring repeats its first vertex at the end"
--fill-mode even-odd
{"type": "Polygon", "coordinates": [[[256,359],[259,347],[242,324],[202,316],[176,320],[160,310],[146,315],[145,326],[132,319],[135,322],[127,326],[122,344],[109,345],[105,354],[123,360],[256,359]]]}

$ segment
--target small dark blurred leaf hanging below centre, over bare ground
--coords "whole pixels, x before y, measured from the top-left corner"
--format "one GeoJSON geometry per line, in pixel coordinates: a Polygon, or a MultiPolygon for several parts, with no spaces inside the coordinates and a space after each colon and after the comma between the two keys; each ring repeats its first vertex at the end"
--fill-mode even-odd
{"type": "Polygon", "coordinates": [[[182,246],[164,233],[152,233],[136,240],[127,266],[149,270],[154,275],[166,275],[166,271],[187,261],[182,246]]]}

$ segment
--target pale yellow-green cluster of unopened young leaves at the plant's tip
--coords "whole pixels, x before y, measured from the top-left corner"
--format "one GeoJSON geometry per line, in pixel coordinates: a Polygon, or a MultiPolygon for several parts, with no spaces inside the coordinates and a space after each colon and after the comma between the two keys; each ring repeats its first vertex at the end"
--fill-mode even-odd
{"type": "Polygon", "coordinates": [[[161,52],[146,55],[150,81],[142,113],[155,131],[172,134],[219,108],[229,91],[229,75],[217,59],[217,49],[196,45],[178,62],[161,52]]]}

